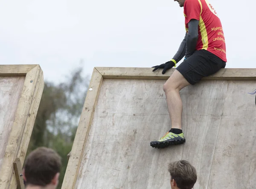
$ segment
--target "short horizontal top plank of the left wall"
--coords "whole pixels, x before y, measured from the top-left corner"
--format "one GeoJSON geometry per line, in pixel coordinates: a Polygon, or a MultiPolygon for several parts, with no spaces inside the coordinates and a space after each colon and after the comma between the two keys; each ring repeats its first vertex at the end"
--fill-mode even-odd
{"type": "Polygon", "coordinates": [[[0,65],[0,76],[26,76],[39,65],[0,65]]]}

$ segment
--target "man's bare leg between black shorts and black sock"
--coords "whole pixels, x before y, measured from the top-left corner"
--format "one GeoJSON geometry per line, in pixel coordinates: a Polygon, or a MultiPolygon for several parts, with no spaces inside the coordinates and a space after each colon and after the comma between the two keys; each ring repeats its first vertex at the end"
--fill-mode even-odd
{"type": "Polygon", "coordinates": [[[183,75],[175,70],[166,83],[163,85],[163,90],[166,94],[166,101],[169,115],[172,121],[172,129],[181,128],[182,115],[182,100],[180,98],[180,90],[190,85],[183,75]]]}

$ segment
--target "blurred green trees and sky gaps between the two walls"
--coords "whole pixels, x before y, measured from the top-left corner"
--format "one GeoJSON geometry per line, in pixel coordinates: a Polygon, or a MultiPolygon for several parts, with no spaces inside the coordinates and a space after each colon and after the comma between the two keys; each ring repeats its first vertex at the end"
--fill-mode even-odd
{"type": "Polygon", "coordinates": [[[65,82],[45,81],[27,155],[37,147],[50,147],[62,158],[58,189],[67,168],[67,154],[71,151],[76,129],[89,84],[83,69],[76,68],[65,82]]]}

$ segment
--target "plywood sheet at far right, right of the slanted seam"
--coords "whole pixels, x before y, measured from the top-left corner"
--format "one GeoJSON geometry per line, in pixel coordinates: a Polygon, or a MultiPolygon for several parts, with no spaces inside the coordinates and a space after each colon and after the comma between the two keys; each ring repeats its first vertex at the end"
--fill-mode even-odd
{"type": "Polygon", "coordinates": [[[256,82],[229,82],[208,189],[256,186],[256,82]]]}

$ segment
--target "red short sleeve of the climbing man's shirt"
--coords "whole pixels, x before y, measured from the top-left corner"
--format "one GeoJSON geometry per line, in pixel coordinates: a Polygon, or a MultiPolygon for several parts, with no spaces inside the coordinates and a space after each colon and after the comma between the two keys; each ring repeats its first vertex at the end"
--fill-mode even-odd
{"type": "Polygon", "coordinates": [[[184,11],[186,12],[186,23],[188,24],[191,19],[200,20],[201,4],[200,0],[186,0],[184,4],[184,11]]]}

